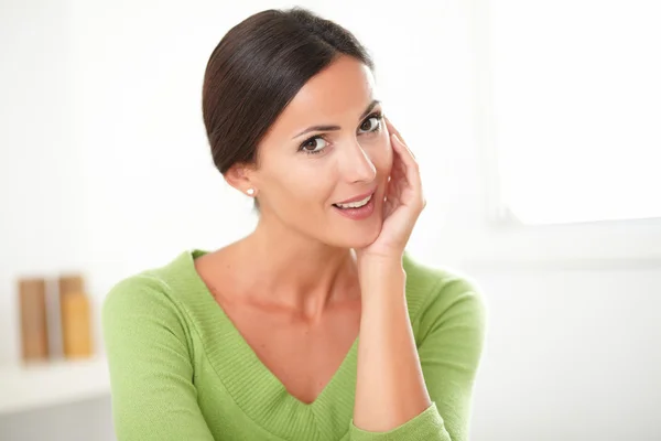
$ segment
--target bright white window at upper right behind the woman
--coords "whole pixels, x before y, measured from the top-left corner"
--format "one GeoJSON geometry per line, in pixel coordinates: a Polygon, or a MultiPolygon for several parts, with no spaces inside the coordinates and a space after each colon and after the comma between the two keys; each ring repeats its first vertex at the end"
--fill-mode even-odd
{"type": "Polygon", "coordinates": [[[489,9],[498,212],[524,225],[661,217],[661,3],[489,9]]]}

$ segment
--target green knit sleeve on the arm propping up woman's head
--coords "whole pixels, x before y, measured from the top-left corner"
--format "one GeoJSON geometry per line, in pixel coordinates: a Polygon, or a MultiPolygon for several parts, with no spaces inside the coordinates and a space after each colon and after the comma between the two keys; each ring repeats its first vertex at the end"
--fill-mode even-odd
{"type": "Polygon", "coordinates": [[[478,291],[462,279],[441,280],[412,323],[432,406],[388,432],[358,429],[350,441],[468,441],[473,386],[486,329],[478,291]]]}

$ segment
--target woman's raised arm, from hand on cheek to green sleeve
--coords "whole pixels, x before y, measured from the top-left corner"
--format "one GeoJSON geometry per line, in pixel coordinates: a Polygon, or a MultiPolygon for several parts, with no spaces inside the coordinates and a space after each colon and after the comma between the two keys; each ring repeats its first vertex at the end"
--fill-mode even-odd
{"type": "MultiPolygon", "coordinates": [[[[416,349],[401,265],[405,244],[426,203],[413,153],[388,119],[386,123],[393,160],[383,223],[377,239],[356,250],[362,315],[349,439],[464,441],[481,352],[481,304],[458,302],[452,313],[436,308],[438,322],[427,323],[431,331],[423,333],[416,349]]],[[[440,293],[432,293],[432,299],[449,298],[445,290],[440,293]]]]}

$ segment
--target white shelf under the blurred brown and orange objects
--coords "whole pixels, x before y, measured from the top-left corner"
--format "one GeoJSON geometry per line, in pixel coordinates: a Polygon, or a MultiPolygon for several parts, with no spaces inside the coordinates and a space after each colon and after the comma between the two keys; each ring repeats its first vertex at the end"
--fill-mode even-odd
{"type": "Polygon", "coordinates": [[[0,366],[0,416],[110,394],[102,356],[28,366],[0,366]]]}

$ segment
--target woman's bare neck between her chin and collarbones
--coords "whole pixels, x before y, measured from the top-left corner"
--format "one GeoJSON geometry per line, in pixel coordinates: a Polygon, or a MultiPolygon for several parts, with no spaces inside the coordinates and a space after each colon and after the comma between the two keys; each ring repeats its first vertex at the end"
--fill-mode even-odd
{"type": "Polygon", "coordinates": [[[237,246],[241,272],[254,275],[245,291],[254,301],[314,319],[328,304],[356,298],[358,278],[349,248],[332,247],[262,219],[237,246]]]}

